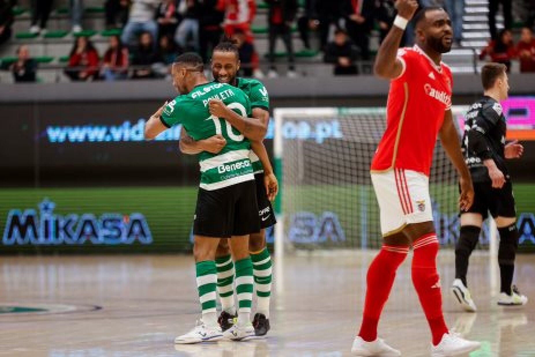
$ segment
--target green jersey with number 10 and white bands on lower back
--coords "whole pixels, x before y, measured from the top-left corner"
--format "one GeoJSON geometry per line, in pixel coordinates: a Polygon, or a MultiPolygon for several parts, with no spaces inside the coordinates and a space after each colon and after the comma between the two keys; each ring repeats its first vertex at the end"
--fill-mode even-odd
{"type": "Polygon", "coordinates": [[[226,145],[218,154],[203,151],[199,154],[201,166],[200,187],[219,189],[253,180],[253,166],[249,159],[250,142],[223,118],[210,115],[208,102],[220,99],[243,117],[250,117],[249,97],[239,88],[226,83],[209,82],[196,86],[192,92],[179,95],[162,112],[162,123],[171,127],[182,124],[194,140],[223,135],[226,145]]]}

